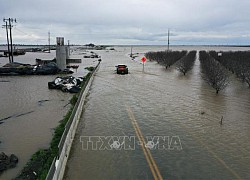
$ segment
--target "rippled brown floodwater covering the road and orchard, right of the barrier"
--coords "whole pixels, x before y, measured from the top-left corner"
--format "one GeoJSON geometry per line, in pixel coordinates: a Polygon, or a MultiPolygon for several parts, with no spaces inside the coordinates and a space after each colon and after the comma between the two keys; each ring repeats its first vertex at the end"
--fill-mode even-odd
{"type": "MultiPolygon", "coordinates": [[[[133,47],[139,56],[135,60],[129,57],[130,47],[115,49],[100,52],[102,63],[64,179],[153,179],[154,173],[163,179],[250,179],[250,88],[246,84],[231,75],[229,86],[217,95],[202,80],[198,59],[186,76],[174,66],[166,70],[156,62],[146,62],[142,72],[143,53],[165,47],[133,47]],[[115,73],[120,63],[128,65],[128,75],[115,73]],[[163,149],[158,144],[145,153],[142,136],[146,143],[150,137],[166,137],[164,143],[169,146],[163,149]],[[110,148],[114,142],[125,142],[119,137],[129,137],[130,148],[110,148]],[[155,163],[148,161],[149,154],[155,163]]],[[[176,46],[172,50],[249,48],[176,46]]],[[[152,142],[156,145],[155,139],[152,142]]]]}

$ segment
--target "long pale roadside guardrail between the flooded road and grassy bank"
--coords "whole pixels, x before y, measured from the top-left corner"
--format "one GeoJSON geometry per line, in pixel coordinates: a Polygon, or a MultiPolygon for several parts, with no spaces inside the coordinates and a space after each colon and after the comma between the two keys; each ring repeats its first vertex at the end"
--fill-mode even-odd
{"type": "Polygon", "coordinates": [[[100,61],[95,67],[94,71],[91,72],[90,77],[87,79],[84,86],[82,87],[78,100],[73,108],[72,114],[65,126],[63,135],[58,145],[58,149],[59,149],[58,157],[54,158],[54,161],[51,164],[50,170],[47,174],[46,180],[63,179],[70,149],[71,149],[74,137],[75,137],[75,132],[76,132],[80,117],[82,115],[84,101],[89,91],[89,88],[92,84],[92,81],[94,79],[94,75],[97,72],[99,66],[100,66],[100,61]]]}

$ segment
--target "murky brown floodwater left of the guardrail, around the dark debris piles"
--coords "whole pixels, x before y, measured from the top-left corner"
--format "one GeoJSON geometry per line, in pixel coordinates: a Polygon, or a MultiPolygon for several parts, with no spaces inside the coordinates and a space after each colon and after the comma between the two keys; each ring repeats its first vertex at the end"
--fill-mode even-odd
{"type": "MultiPolygon", "coordinates": [[[[14,56],[15,62],[35,64],[36,58],[53,59],[51,53],[26,53],[14,56]]],[[[74,51],[72,58],[82,58],[74,51]]],[[[0,58],[0,66],[8,58],[0,58]]],[[[84,76],[84,67],[96,62],[84,60],[74,76],[84,76]]],[[[69,109],[72,94],[48,89],[48,82],[58,75],[48,76],[0,76],[0,152],[15,154],[19,158],[16,168],[0,175],[0,179],[12,179],[37,150],[48,148],[53,129],[69,109]]]]}

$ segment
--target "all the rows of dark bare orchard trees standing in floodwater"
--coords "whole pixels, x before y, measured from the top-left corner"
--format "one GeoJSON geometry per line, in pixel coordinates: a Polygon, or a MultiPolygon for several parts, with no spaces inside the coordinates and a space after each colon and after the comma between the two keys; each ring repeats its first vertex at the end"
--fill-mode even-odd
{"type": "MultiPolygon", "coordinates": [[[[166,69],[175,64],[176,69],[185,75],[194,65],[196,53],[196,51],[158,51],[147,52],[145,56],[150,61],[165,66],[166,69]]],[[[202,78],[216,90],[217,94],[229,84],[227,69],[250,86],[250,51],[200,51],[199,60],[202,78]]]]}

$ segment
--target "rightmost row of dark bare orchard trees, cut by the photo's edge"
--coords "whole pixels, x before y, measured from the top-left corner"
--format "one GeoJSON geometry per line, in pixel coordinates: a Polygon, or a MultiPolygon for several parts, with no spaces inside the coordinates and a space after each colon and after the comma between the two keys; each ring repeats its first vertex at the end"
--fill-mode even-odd
{"type": "Polygon", "coordinates": [[[209,54],[250,87],[250,51],[210,51],[209,54]]]}

